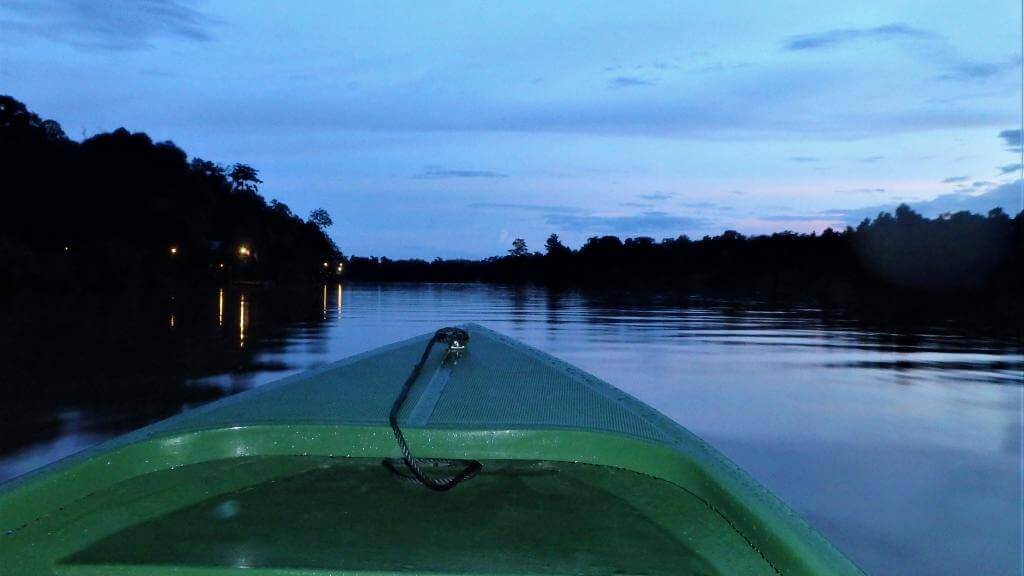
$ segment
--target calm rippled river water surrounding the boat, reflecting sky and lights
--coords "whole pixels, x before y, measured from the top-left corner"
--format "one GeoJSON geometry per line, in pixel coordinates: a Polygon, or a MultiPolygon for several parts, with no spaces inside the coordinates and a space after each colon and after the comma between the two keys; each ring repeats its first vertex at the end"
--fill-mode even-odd
{"type": "Polygon", "coordinates": [[[0,479],[223,394],[473,321],[688,426],[871,574],[1019,566],[1024,357],[1013,338],[750,301],[478,285],[224,287],[167,305],[83,306],[77,335],[9,361],[0,479]]]}

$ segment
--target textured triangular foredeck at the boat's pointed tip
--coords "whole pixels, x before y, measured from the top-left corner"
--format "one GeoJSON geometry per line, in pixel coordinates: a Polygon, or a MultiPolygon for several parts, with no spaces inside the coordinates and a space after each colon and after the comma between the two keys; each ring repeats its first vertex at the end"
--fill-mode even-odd
{"type": "MultiPolygon", "coordinates": [[[[673,443],[682,430],[594,376],[481,326],[441,366],[435,346],[400,414],[402,427],[574,428],[673,443]]],[[[262,423],[387,425],[388,411],[427,342],[421,336],[267,384],[172,418],[151,431],[262,423]]]]}

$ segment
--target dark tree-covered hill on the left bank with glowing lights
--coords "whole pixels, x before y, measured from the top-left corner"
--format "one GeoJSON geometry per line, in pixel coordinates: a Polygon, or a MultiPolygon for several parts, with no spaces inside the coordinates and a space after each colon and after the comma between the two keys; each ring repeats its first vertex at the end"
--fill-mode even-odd
{"type": "Polygon", "coordinates": [[[74,141],[0,96],[0,290],[323,275],[341,257],[330,216],[267,204],[260,183],[251,166],[189,161],[124,128],[74,141]]]}

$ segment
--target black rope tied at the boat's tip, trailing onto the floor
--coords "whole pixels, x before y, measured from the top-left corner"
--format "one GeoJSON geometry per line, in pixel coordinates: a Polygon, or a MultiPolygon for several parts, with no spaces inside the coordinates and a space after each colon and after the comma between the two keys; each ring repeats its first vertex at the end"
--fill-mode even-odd
{"type": "Polygon", "coordinates": [[[388,422],[391,424],[391,430],[394,431],[394,439],[398,442],[398,448],[401,449],[401,460],[406,463],[406,468],[409,469],[412,476],[399,471],[390,459],[385,459],[384,465],[392,472],[404,478],[412,478],[431,490],[445,492],[458,486],[460,482],[476,476],[483,468],[483,465],[476,460],[418,459],[413,456],[412,451],[409,449],[409,444],[406,442],[406,437],[401,434],[401,428],[398,427],[398,412],[401,411],[401,406],[406,403],[406,399],[409,398],[409,392],[413,388],[413,383],[416,382],[416,379],[420,376],[420,372],[423,371],[423,366],[427,363],[427,359],[430,358],[430,352],[436,342],[443,342],[449,345],[449,351],[445,353],[445,358],[442,361],[445,362],[447,361],[447,354],[453,353],[453,351],[455,354],[458,354],[466,346],[469,342],[469,332],[461,328],[441,328],[427,342],[427,347],[423,351],[423,356],[420,357],[420,361],[413,367],[413,372],[406,378],[406,382],[401,385],[401,392],[394,399],[394,404],[391,405],[391,412],[388,414],[388,422]],[[423,472],[423,463],[462,463],[465,464],[465,467],[455,476],[431,478],[423,472]]]}

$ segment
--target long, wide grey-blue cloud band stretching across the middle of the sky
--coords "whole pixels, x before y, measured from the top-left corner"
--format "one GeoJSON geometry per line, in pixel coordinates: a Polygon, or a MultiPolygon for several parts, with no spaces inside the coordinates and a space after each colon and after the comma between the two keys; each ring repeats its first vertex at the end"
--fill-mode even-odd
{"type": "Polygon", "coordinates": [[[458,90],[442,89],[449,84],[441,80],[399,83],[387,89],[310,92],[302,96],[301,106],[296,106],[294,86],[269,82],[266,89],[247,94],[246,106],[238,106],[234,95],[197,98],[172,118],[168,113],[166,121],[179,128],[262,135],[294,134],[305,126],[324,132],[643,135],[730,142],[779,137],[846,140],[1013,122],[1012,107],[923,105],[920,99],[900,99],[907,97],[905,91],[887,93],[890,104],[883,109],[863,107],[833,93],[850,82],[846,75],[815,67],[759,70],[685,91],[637,89],[629,98],[612,97],[613,91],[603,89],[590,97],[593,94],[579,88],[544,98],[481,94],[470,107],[456,95],[458,90]],[[423,98],[424,90],[435,95],[423,98]],[[830,104],[820,104],[824,101],[830,104]]]}

